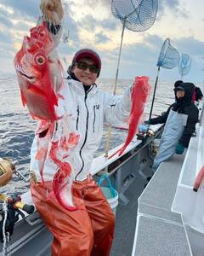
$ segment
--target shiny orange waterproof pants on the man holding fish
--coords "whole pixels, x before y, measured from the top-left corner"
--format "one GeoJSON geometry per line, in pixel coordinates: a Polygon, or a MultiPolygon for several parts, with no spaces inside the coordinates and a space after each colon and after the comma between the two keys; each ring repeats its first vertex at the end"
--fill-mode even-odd
{"type": "Polygon", "coordinates": [[[108,201],[93,179],[74,182],[72,187],[80,201],[80,210],[75,212],[59,205],[52,182],[46,182],[45,187],[31,183],[37,211],[54,236],[52,256],[108,256],[115,227],[108,201]]]}

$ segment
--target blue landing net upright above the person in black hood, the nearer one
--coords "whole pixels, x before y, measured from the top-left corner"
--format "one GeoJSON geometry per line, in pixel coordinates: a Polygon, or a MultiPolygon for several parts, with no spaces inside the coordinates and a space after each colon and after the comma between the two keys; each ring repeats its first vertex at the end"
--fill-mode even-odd
{"type": "Polygon", "coordinates": [[[167,38],[162,47],[161,52],[157,61],[157,67],[163,67],[166,69],[172,69],[178,65],[180,55],[178,50],[170,44],[170,39],[167,38]]]}

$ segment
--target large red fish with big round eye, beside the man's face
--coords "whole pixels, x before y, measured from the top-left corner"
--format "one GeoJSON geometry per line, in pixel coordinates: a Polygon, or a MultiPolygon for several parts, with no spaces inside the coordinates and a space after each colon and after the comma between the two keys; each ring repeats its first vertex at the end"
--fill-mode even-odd
{"type": "MultiPolygon", "coordinates": [[[[53,121],[58,119],[54,109],[58,105],[55,89],[61,86],[61,80],[56,81],[56,77],[52,76],[56,61],[50,58],[50,53],[54,42],[45,23],[31,28],[30,32],[31,37],[24,38],[14,58],[22,103],[33,119],[53,121]]],[[[55,67],[55,71],[60,73],[60,67],[55,67]]]]}

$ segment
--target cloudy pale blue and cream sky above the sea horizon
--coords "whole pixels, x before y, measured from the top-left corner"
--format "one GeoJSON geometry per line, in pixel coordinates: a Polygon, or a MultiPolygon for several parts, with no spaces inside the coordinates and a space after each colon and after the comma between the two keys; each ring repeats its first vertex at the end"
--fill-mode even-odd
{"type": "MultiPolygon", "coordinates": [[[[59,56],[66,68],[78,49],[96,50],[102,60],[101,78],[114,79],[122,34],[122,22],[111,13],[111,0],[66,1],[63,34],[69,41],[59,44],[59,56]],[[66,61],[63,61],[66,60],[66,61]]],[[[117,0],[119,1],[119,0],[117,0]]],[[[121,0],[122,1],[122,0],[121,0]]],[[[129,2],[130,0],[123,0],[129,2]]],[[[147,1],[147,0],[145,0],[147,1]]],[[[135,0],[133,1],[135,2],[135,0]]],[[[0,71],[14,73],[14,55],[40,15],[40,0],[1,0],[0,71]]],[[[119,78],[148,75],[156,79],[157,59],[166,38],[179,54],[191,57],[190,73],[184,81],[204,80],[203,0],[158,0],[156,21],[144,32],[125,29],[119,78]]],[[[161,68],[160,79],[180,79],[178,67],[161,68]]]]}

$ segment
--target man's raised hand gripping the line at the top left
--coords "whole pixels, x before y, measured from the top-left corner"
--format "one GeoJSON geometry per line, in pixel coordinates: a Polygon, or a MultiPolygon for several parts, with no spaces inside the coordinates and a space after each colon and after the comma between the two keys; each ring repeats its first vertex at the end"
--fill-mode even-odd
{"type": "Polygon", "coordinates": [[[44,19],[54,25],[59,25],[64,16],[61,0],[41,0],[40,9],[44,19]]]}

